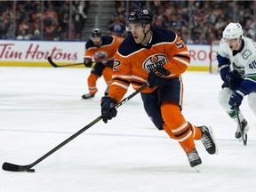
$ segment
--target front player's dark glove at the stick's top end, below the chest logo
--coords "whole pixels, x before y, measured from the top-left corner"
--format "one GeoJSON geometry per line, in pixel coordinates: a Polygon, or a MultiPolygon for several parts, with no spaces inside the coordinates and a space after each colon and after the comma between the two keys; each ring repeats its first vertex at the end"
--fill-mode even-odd
{"type": "Polygon", "coordinates": [[[170,72],[162,66],[153,68],[148,73],[148,87],[163,86],[166,83],[166,77],[170,76],[170,72]]]}

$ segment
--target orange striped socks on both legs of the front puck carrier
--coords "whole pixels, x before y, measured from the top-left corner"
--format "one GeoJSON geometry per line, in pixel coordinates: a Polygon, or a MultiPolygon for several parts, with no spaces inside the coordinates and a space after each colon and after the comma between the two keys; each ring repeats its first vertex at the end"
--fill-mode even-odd
{"type": "Polygon", "coordinates": [[[164,123],[164,131],[175,140],[186,153],[192,152],[195,148],[194,138],[200,139],[202,133],[199,128],[189,124],[180,111],[180,106],[171,101],[164,101],[161,106],[164,123]],[[169,130],[168,130],[169,129],[169,130]]]}

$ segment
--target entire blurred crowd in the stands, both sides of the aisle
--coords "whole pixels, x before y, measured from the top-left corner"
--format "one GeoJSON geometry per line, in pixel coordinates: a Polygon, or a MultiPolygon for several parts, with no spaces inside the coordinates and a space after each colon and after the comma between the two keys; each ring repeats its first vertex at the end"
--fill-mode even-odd
{"type": "MultiPolygon", "coordinates": [[[[13,1],[0,4],[1,39],[40,40],[44,33],[44,40],[81,40],[90,9],[90,1],[44,1],[44,7],[42,1],[16,1],[14,7],[13,1]]],[[[126,6],[126,1],[116,1],[108,34],[126,36],[126,6]]],[[[128,12],[151,10],[154,25],[172,29],[187,44],[220,39],[230,21],[243,26],[244,36],[256,36],[254,1],[129,1],[128,7],[128,12]]]]}

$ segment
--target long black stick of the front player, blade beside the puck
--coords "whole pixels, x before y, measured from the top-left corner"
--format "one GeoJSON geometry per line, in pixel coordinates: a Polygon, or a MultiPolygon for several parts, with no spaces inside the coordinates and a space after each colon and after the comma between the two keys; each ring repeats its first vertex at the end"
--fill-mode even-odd
{"type": "MultiPolygon", "coordinates": [[[[120,106],[122,106],[126,101],[131,100],[135,95],[137,95],[138,93],[140,93],[142,90],[144,90],[145,88],[148,87],[148,84],[144,84],[142,85],[136,92],[132,92],[131,95],[129,95],[128,97],[124,98],[124,100],[121,100],[119,103],[116,104],[116,108],[119,108],[120,106]]],[[[67,140],[64,140],[63,142],[61,142],[57,147],[52,148],[52,150],[50,150],[48,153],[44,154],[44,156],[41,156],[40,158],[38,158],[35,162],[33,162],[32,164],[27,164],[27,165],[19,165],[19,164],[11,164],[11,163],[7,163],[4,162],[2,168],[4,171],[9,171],[9,172],[35,172],[35,169],[31,169],[32,167],[34,167],[36,164],[39,164],[41,161],[43,161],[47,156],[52,155],[52,153],[54,153],[55,151],[57,151],[58,149],[62,148],[63,146],[65,146],[69,141],[75,139],[78,135],[80,135],[82,132],[86,131],[87,129],[89,129],[90,127],[92,127],[93,124],[97,124],[100,120],[102,119],[102,116],[98,116],[96,119],[94,119],[90,124],[87,124],[86,126],[84,126],[83,129],[81,129],[80,131],[76,132],[75,134],[73,134],[71,137],[69,137],[67,140]]]]}

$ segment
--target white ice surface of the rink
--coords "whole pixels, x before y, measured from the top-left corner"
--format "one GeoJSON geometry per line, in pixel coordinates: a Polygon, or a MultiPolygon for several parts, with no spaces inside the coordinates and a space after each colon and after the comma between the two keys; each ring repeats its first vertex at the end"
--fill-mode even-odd
{"type": "MultiPolygon", "coordinates": [[[[90,68],[0,68],[0,164],[31,164],[100,116],[103,78],[92,100],[90,68]]],[[[140,95],[35,165],[36,172],[0,171],[1,192],[251,192],[256,188],[256,118],[243,100],[251,126],[248,144],[235,139],[236,123],[220,108],[220,76],[186,72],[183,115],[211,125],[219,155],[200,140],[201,172],[190,168],[177,141],[159,132],[140,95]],[[255,159],[254,159],[255,158],[255,159]]],[[[131,89],[125,96],[134,92],[131,89]]]]}

